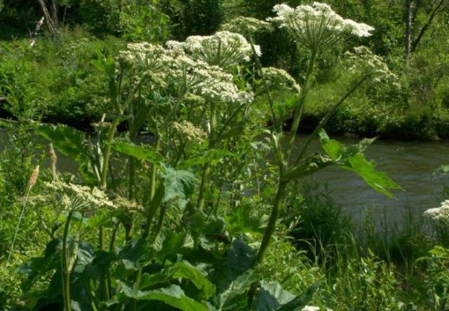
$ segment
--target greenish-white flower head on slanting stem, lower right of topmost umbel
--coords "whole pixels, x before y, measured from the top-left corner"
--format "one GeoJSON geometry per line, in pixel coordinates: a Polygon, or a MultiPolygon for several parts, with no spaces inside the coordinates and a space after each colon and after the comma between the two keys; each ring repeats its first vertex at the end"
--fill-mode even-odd
{"type": "Polygon", "coordinates": [[[366,46],[357,46],[354,53],[346,52],[349,62],[349,70],[352,72],[360,72],[361,74],[370,74],[375,82],[393,81],[396,83],[398,77],[389,70],[387,64],[379,56],[375,55],[366,46]]]}

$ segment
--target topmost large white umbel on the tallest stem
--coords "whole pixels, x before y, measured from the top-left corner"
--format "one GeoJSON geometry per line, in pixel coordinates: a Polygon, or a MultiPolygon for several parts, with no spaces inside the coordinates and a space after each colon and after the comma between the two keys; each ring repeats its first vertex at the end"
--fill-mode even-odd
{"type": "Polygon", "coordinates": [[[345,34],[369,37],[374,30],[369,25],[342,18],[328,4],[319,2],[296,8],[278,4],[273,11],[276,17],[268,18],[269,21],[279,23],[280,27],[293,35],[298,44],[316,52],[337,44],[345,34]]]}

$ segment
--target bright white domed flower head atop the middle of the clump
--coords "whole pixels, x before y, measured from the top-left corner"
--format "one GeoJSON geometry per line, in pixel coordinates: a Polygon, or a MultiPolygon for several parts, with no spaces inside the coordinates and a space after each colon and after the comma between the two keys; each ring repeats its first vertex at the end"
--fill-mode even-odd
{"type": "MultiPolygon", "coordinates": [[[[166,45],[175,51],[184,50],[195,59],[222,68],[249,61],[253,55],[245,37],[228,31],[216,32],[212,36],[187,37],[185,42],[168,41],[166,45]]],[[[262,54],[260,46],[255,46],[255,51],[257,55],[262,54]]]]}

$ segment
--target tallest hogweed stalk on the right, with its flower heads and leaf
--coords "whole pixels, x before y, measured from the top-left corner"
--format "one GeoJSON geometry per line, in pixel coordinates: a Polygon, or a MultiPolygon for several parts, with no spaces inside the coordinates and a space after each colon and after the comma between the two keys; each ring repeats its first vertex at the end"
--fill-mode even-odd
{"type": "MultiPolygon", "coordinates": [[[[272,107],[274,119],[274,126],[272,126],[270,130],[270,135],[276,154],[277,165],[279,167],[279,183],[267,230],[264,232],[264,237],[262,238],[262,243],[257,253],[256,263],[259,264],[262,263],[264,253],[267,251],[269,241],[274,234],[279,213],[283,209],[283,199],[286,188],[291,180],[309,176],[326,166],[337,164],[337,166],[358,173],[369,185],[374,187],[375,190],[383,192],[384,194],[391,196],[391,193],[388,191],[389,189],[401,189],[401,187],[396,185],[396,183],[390,180],[384,173],[375,171],[375,164],[366,161],[365,157],[363,157],[363,150],[365,150],[373,140],[363,140],[356,146],[344,147],[337,141],[330,140],[323,130],[330,117],[335,114],[344,100],[346,100],[351,93],[354,93],[358,86],[361,86],[363,82],[371,77],[383,76],[385,74],[387,74],[387,76],[392,76],[388,67],[384,65],[381,59],[376,55],[373,55],[373,53],[370,53],[367,48],[356,48],[355,54],[349,55],[349,58],[352,58],[351,70],[354,72],[363,72],[361,78],[359,78],[358,81],[349,88],[349,91],[347,91],[347,93],[333,105],[326,116],[320,121],[319,125],[314,128],[313,133],[311,133],[309,138],[304,142],[302,150],[297,155],[296,159],[292,158],[293,143],[295,142],[295,136],[297,135],[300,126],[304,105],[307,102],[307,93],[311,88],[311,77],[313,76],[317,56],[335,44],[342,44],[344,39],[349,35],[369,37],[370,32],[374,30],[373,27],[363,23],[354,22],[353,20],[344,19],[340,15],[337,15],[337,13],[335,13],[327,4],[318,2],[314,2],[311,6],[301,5],[297,6],[297,8],[291,8],[286,4],[280,4],[274,6],[274,12],[276,13],[276,17],[269,18],[268,20],[279,25],[281,28],[285,28],[291,37],[295,39],[297,44],[309,49],[310,56],[304,84],[302,85],[301,92],[298,94],[299,99],[294,107],[293,121],[290,128],[290,134],[288,135],[288,138],[286,138],[285,146],[281,145],[281,141],[283,140],[281,124],[283,124],[284,120],[278,120],[276,118],[273,109],[275,103],[272,96],[269,95],[269,88],[266,87],[267,98],[272,107]],[[321,145],[326,154],[315,154],[311,157],[304,158],[307,148],[316,135],[319,135],[321,145]]],[[[254,56],[257,58],[257,53],[255,53],[254,56]]],[[[260,62],[257,63],[260,64],[260,62]]],[[[268,73],[272,75],[272,72],[263,70],[260,66],[259,71],[262,79],[264,79],[264,74],[268,73]]],[[[286,79],[285,73],[283,73],[283,77],[285,81],[291,81],[293,79],[286,79]]],[[[267,82],[265,82],[265,85],[267,85],[267,82]]],[[[296,90],[299,91],[298,88],[296,88],[296,90]]]]}

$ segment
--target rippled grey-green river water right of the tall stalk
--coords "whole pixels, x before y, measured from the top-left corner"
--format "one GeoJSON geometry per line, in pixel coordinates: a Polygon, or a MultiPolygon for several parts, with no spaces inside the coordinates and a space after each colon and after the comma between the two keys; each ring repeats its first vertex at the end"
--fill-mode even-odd
{"type": "MultiPolygon", "coordinates": [[[[351,138],[336,138],[345,145],[356,143],[351,138]]],[[[297,136],[295,152],[299,152],[305,137],[297,136]]],[[[311,152],[320,150],[316,140],[311,145],[311,152]]],[[[400,218],[410,207],[413,211],[438,206],[443,199],[443,185],[449,180],[448,175],[432,176],[438,166],[449,164],[449,141],[404,142],[398,140],[377,140],[368,147],[366,158],[374,160],[377,168],[391,176],[404,192],[395,191],[396,199],[389,199],[375,192],[364,180],[350,171],[337,167],[325,168],[316,173],[312,179],[327,182],[332,191],[331,197],[340,203],[344,210],[356,215],[363,207],[385,207],[393,218],[400,218]]]]}

